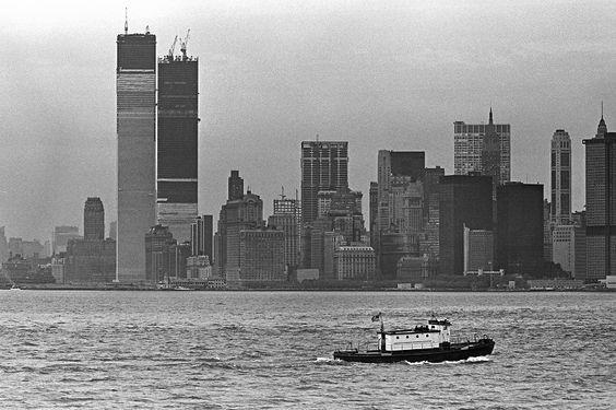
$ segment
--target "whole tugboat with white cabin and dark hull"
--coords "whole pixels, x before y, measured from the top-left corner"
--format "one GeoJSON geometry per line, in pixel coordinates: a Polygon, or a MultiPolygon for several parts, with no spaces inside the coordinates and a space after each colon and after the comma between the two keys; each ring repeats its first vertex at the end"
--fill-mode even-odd
{"type": "Polygon", "coordinates": [[[334,359],[346,362],[393,363],[393,362],[445,362],[459,361],[474,356],[491,354],[494,340],[484,335],[474,340],[452,343],[450,340],[451,323],[447,319],[429,319],[428,325],[415,326],[411,329],[388,330],[383,328],[382,315],[372,317],[372,321],[381,320],[378,332],[378,348],[359,351],[359,349],[336,350],[334,359]]]}

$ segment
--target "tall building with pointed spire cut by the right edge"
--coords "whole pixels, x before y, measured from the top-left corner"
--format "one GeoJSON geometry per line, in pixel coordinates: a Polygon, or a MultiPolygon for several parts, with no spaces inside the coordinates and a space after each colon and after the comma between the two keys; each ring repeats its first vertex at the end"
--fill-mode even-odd
{"type": "Polygon", "coordinates": [[[616,132],[601,116],[594,138],[583,140],[587,157],[587,282],[616,271],[616,132]]]}

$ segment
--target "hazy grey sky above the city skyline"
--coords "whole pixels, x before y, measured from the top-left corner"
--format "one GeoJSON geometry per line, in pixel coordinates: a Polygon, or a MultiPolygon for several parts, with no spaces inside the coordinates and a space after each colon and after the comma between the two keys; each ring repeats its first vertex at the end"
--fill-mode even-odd
{"type": "Polygon", "coordinates": [[[87,197],[116,219],[116,36],[149,25],[165,55],[190,28],[199,57],[199,210],[217,219],[230,169],[265,218],[300,186],[300,142],[350,144],[365,197],[378,150],[425,151],[453,173],[453,121],[511,124],[512,180],[544,184],[549,141],[582,139],[601,102],[616,126],[615,1],[0,0],[0,226],[7,236],[83,229],[87,197]]]}

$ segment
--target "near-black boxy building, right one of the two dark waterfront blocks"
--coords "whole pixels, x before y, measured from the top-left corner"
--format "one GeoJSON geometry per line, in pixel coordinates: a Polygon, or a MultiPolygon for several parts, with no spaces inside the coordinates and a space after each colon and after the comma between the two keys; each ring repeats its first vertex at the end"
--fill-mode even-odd
{"type": "Polygon", "coordinates": [[[542,273],[543,185],[507,183],[497,188],[496,265],[506,273],[542,273]]]}

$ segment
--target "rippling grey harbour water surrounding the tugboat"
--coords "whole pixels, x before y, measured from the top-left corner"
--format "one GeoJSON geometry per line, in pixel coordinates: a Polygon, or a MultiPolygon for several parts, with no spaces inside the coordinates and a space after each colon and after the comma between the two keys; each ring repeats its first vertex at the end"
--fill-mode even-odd
{"type": "Polygon", "coordinates": [[[613,409],[616,294],[0,291],[0,407],[613,409]],[[431,312],[452,363],[332,360],[431,312]]]}

